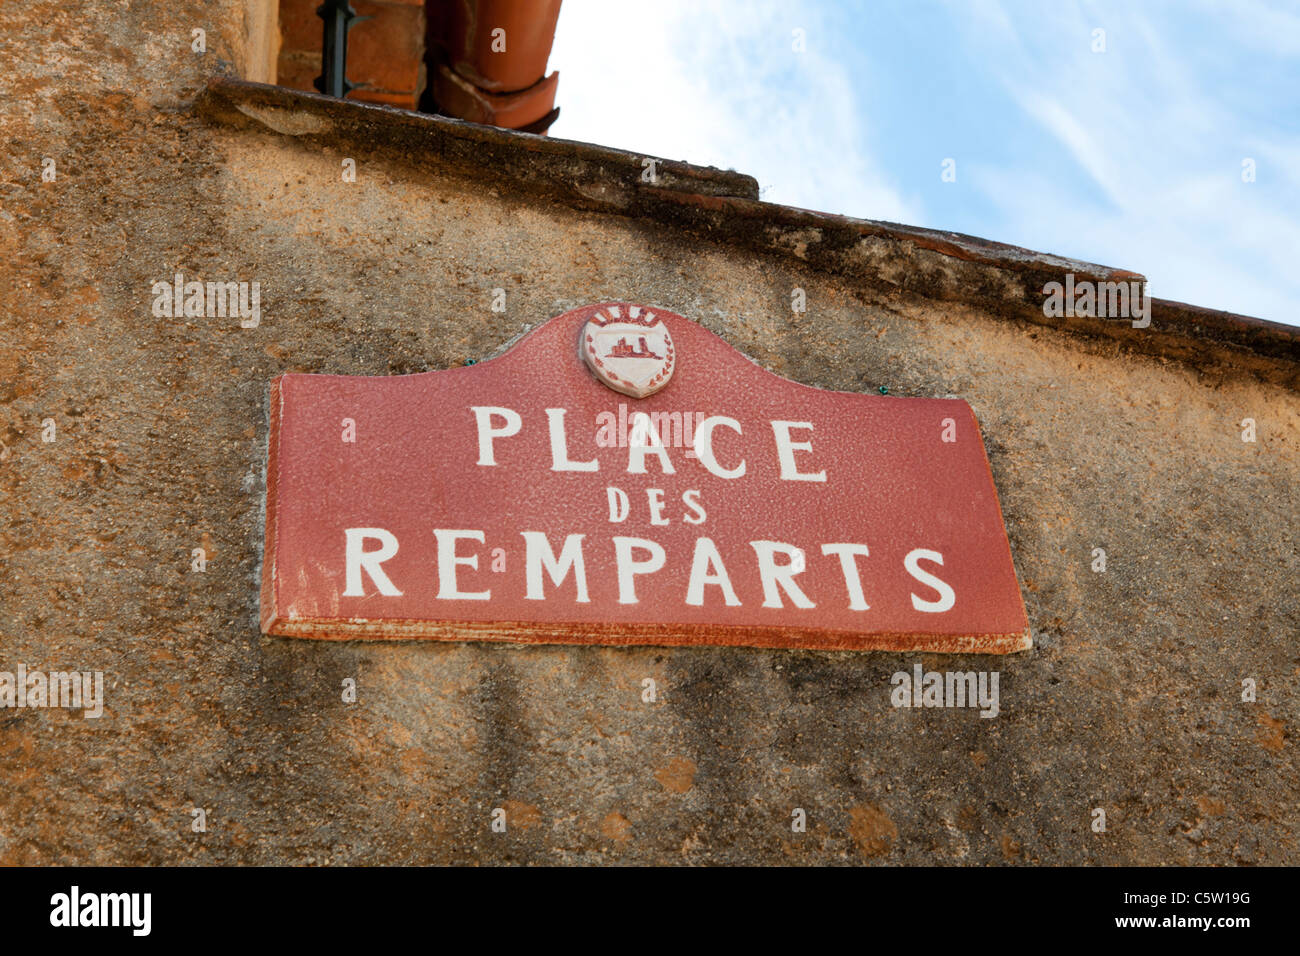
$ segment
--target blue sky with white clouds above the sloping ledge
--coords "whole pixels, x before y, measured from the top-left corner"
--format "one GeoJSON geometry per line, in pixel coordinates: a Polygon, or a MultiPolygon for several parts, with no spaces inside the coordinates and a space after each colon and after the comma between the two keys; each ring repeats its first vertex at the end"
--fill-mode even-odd
{"type": "Polygon", "coordinates": [[[550,65],[555,137],[1300,325],[1300,1],[564,0],[550,65]]]}

